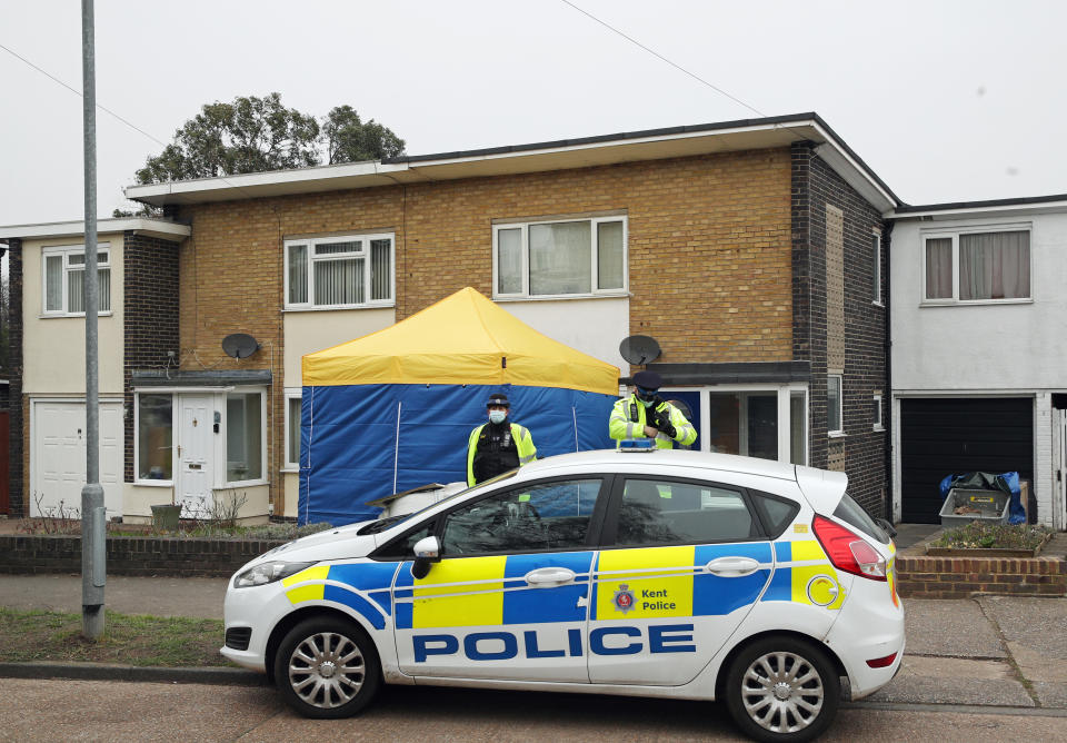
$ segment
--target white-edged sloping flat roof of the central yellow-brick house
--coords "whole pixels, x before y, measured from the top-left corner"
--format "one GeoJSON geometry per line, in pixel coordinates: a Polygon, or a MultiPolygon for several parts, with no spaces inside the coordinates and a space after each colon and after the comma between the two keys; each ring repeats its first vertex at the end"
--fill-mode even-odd
{"type": "Polygon", "coordinates": [[[128,199],[156,206],[313,194],[523,172],[588,168],[618,162],[712,152],[788,147],[811,141],[819,156],[880,211],[900,199],[818,115],[794,113],[697,126],[646,129],[577,139],[490,147],[385,160],[128,186],[128,199]]]}

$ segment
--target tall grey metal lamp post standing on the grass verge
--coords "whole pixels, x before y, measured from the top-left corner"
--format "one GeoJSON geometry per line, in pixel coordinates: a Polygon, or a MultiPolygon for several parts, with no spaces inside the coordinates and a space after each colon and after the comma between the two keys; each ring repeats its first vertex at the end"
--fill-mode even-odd
{"type": "Polygon", "coordinates": [[[93,0],[81,0],[81,79],[86,175],[86,486],[81,489],[81,632],[103,634],[106,514],[100,486],[100,379],[97,375],[97,85],[93,0]]]}

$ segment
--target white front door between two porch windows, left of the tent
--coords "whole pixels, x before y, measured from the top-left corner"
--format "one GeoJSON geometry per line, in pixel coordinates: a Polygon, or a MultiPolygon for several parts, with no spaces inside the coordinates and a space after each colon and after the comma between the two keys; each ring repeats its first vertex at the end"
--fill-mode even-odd
{"type": "Polygon", "coordinates": [[[212,424],[210,395],[178,395],[178,503],[182,518],[211,515],[212,424]]]}

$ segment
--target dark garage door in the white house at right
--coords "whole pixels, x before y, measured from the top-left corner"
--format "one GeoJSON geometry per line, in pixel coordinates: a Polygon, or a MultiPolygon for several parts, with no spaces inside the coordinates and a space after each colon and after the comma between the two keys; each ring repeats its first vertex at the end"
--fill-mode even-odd
{"type": "Polygon", "coordinates": [[[900,496],[909,524],[937,524],[946,475],[1018,472],[1034,479],[1034,399],[900,400],[900,496]]]}

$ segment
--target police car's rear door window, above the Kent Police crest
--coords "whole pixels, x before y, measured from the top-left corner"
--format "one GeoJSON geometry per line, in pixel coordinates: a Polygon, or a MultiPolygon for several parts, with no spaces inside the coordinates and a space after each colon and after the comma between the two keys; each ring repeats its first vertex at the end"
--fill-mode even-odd
{"type": "Polygon", "coordinates": [[[638,478],[624,484],[618,546],[741,542],[757,536],[740,491],[638,478]]]}

